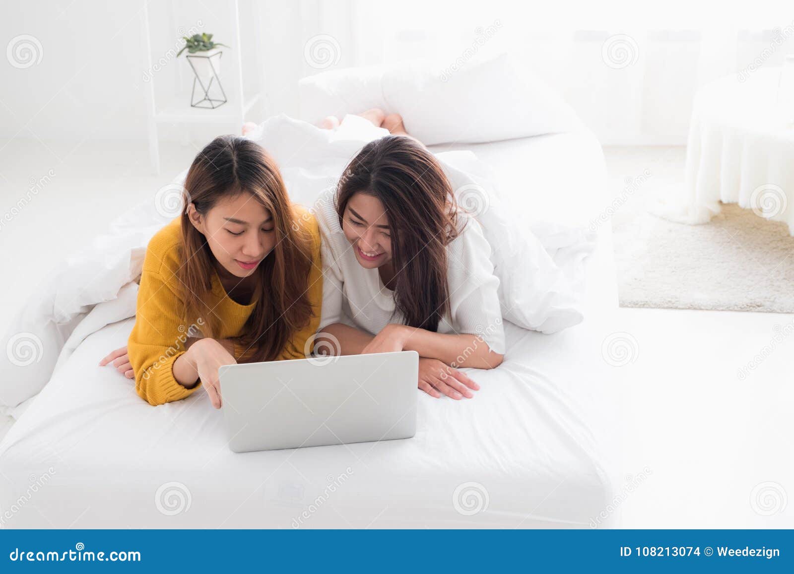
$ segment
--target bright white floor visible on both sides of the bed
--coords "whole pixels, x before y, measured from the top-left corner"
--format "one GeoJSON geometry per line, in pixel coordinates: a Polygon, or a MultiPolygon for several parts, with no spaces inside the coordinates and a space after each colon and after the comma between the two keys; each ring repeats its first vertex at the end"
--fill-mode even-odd
{"type": "MultiPolygon", "coordinates": [[[[152,197],[195,152],[165,146],[163,175],[154,175],[141,145],[73,149],[15,140],[3,149],[0,218],[32,178],[50,169],[55,175],[0,227],[0,268],[11,270],[0,287],[0,329],[53,265],[101,233],[97,222],[152,197]]],[[[676,157],[680,149],[607,149],[615,193],[659,153],[676,157]]],[[[794,527],[794,507],[784,505],[794,495],[794,333],[776,330],[792,321],[782,314],[616,310],[615,331],[636,341],[634,362],[614,368],[624,416],[613,424],[624,441],[626,491],[633,490],[615,502],[623,526],[794,527]],[[646,478],[638,483],[641,473],[646,478]]]]}

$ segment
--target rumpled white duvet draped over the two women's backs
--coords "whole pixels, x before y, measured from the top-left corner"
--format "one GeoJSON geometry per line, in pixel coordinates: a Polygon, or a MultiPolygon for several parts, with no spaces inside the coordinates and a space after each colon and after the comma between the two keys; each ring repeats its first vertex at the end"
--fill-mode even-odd
{"type": "MultiPolygon", "coordinates": [[[[279,116],[264,121],[249,137],[274,156],[293,201],[311,206],[364,143],[385,134],[355,116],[346,117],[336,132],[279,116]]],[[[471,152],[437,156],[461,203],[473,203],[491,243],[504,318],[545,333],[580,322],[580,281],[592,237],[576,227],[548,224],[534,225],[536,237],[511,222],[484,165],[471,152]]],[[[177,175],[152,201],[118,218],[110,233],[71,257],[31,295],[2,341],[8,352],[0,355],[0,406],[13,412],[44,387],[85,337],[135,314],[146,245],[179,213],[175,203],[185,175],[177,175]],[[98,303],[104,305],[94,307],[98,303]]]]}

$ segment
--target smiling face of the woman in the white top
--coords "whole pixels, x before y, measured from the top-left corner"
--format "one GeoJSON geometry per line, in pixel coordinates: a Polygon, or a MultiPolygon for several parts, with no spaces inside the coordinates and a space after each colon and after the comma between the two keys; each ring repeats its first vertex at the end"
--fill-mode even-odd
{"type": "Polygon", "coordinates": [[[388,224],[380,199],[360,192],[349,199],[342,217],[342,231],[361,267],[374,269],[391,261],[388,224]]]}

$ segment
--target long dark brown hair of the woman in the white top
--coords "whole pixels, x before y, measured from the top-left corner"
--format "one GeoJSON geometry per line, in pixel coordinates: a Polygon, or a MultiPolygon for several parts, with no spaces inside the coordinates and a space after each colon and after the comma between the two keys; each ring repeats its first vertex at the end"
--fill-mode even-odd
{"type": "Polygon", "coordinates": [[[340,224],[357,193],[380,199],[391,233],[395,311],[406,325],[436,331],[449,312],[446,246],[460,233],[452,186],[435,156],[411,137],[371,141],[337,188],[340,224]]]}

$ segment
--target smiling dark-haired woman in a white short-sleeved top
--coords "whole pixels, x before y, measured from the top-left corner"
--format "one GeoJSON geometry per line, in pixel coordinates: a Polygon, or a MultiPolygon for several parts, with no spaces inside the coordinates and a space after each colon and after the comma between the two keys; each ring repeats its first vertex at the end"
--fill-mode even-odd
{"type": "Polygon", "coordinates": [[[315,349],[413,350],[422,391],[471,398],[479,386],[454,367],[502,362],[499,279],[435,156],[407,136],[372,141],[315,214],[324,275],[315,349]]]}

